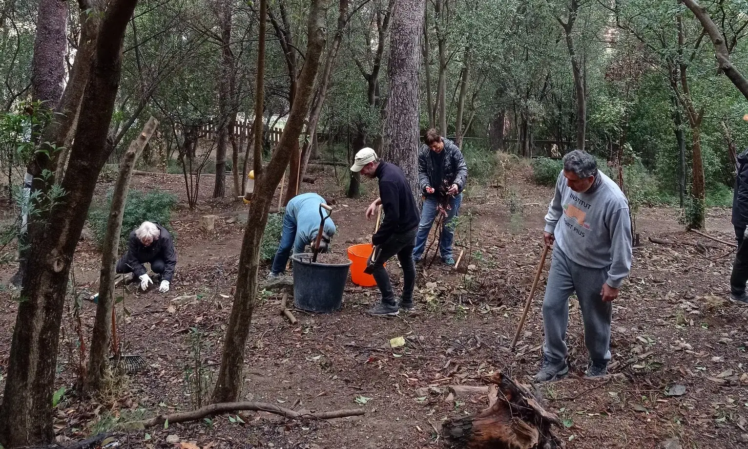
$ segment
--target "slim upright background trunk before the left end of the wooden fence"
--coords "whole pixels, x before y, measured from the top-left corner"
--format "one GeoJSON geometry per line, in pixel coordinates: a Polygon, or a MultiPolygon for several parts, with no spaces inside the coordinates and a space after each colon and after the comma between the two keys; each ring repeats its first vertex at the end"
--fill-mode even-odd
{"type": "MultiPolygon", "coordinates": [[[[236,67],[231,52],[232,3],[220,0],[215,10],[221,27],[221,82],[218,84],[218,144],[215,147],[215,187],[213,198],[226,196],[226,153],[233,135],[236,110],[233,99],[236,92],[236,67]]],[[[236,187],[236,183],[234,184],[236,187]]]]}

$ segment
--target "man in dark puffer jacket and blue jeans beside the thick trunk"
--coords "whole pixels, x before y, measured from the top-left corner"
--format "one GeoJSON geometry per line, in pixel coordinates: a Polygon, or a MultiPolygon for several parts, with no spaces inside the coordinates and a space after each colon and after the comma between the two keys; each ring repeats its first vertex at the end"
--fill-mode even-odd
{"type": "Polygon", "coordinates": [[[426,131],[426,143],[418,153],[418,184],[426,197],[421,210],[420,224],[416,236],[413,259],[417,262],[426,249],[426,240],[435,219],[444,214],[439,240],[441,260],[454,265],[452,242],[455,239],[454,217],[459,214],[462,204],[462,189],[468,180],[468,165],[462,152],[447,138],[441,137],[436,129],[426,131]]]}

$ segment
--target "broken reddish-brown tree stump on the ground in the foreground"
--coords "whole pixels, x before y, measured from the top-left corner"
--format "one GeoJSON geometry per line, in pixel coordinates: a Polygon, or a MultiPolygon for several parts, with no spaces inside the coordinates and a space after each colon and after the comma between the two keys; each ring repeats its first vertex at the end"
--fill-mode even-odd
{"type": "Polygon", "coordinates": [[[455,418],[442,425],[442,436],[455,448],[467,449],[555,449],[564,443],[552,430],[561,425],[546,412],[533,394],[509,376],[498,372],[488,379],[497,385],[493,405],[475,415],[455,418]]]}

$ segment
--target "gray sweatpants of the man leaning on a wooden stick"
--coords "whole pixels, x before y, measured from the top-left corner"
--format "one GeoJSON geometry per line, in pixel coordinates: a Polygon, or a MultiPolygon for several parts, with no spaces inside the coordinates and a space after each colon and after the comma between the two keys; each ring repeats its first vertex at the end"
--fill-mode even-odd
{"type": "Polygon", "coordinates": [[[553,364],[566,358],[568,297],[577,293],[584,321],[584,342],[590,361],[606,365],[610,360],[610,319],[613,305],[600,294],[607,280],[607,268],[588,268],[572,262],[558,245],[554,248],[551,272],[543,299],[545,343],[543,353],[553,364]]]}

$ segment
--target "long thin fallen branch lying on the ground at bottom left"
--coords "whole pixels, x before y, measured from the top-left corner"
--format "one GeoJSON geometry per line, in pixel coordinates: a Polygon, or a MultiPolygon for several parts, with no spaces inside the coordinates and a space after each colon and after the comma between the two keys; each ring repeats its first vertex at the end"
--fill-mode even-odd
{"type": "Polygon", "coordinates": [[[188,421],[197,421],[209,416],[221,415],[223,413],[230,412],[268,412],[275,413],[275,415],[282,415],[286,418],[291,419],[334,419],[334,418],[345,418],[346,416],[361,416],[364,415],[363,409],[350,409],[350,410],[335,410],[334,412],[319,412],[312,413],[307,410],[301,410],[296,412],[291,409],[284,409],[283,407],[276,406],[270,403],[258,403],[258,402],[240,402],[240,403],[215,403],[209,406],[204,406],[202,409],[192,410],[190,412],[172,413],[171,415],[159,415],[156,418],[147,419],[144,421],[135,421],[129,423],[127,427],[132,428],[149,428],[162,426],[166,421],[169,424],[185,423],[188,421]]]}

